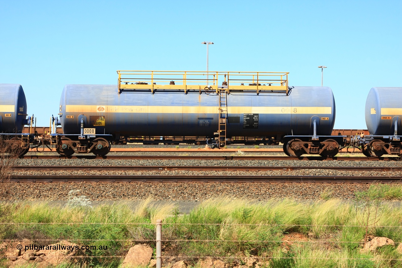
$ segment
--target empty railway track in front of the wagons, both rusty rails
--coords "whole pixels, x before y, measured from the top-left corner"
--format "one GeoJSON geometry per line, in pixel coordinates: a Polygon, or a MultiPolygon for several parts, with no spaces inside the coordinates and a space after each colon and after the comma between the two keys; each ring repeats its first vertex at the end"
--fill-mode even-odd
{"type": "Polygon", "coordinates": [[[197,183],[401,183],[401,176],[295,176],[295,175],[103,175],[103,171],[401,171],[402,167],[216,167],[216,166],[15,166],[14,171],[98,171],[100,175],[14,175],[11,182],[197,182],[197,183]]]}

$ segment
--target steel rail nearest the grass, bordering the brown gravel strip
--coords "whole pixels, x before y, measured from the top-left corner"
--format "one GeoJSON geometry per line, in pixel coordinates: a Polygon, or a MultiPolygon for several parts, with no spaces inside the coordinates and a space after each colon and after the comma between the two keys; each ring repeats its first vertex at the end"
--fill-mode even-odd
{"type": "Polygon", "coordinates": [[[140,183],[401,183],[401,176],[222,176],[222,175],[15,175],[10,182],[140,182],[140,183]]]}

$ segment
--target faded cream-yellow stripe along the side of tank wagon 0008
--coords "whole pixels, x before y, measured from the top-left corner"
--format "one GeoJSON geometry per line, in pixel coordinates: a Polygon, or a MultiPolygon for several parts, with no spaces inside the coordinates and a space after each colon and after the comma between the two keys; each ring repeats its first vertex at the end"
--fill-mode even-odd
{"type": "MultiPolygon", "coordinates": [[[[216,106],[66,105],[67,113],[218,113],[216,106]]],[[[228,107],[228,113],[331,114],[332,107],[228,107]]]]}

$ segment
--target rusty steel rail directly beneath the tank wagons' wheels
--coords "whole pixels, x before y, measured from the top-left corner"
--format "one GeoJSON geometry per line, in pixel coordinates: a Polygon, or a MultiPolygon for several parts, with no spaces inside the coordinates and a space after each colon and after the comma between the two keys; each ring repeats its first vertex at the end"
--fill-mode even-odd
{"type": "Polygon", "coordinates": [[[325,158],[321,156],[301,156],[301,157],[288,157],[288,156],[233,156],[233,155],[24,155],[23,159],[155,159],[155,160],[317,160],[317,161],[398,161],[400,157],[333,157],[325,158]]]}

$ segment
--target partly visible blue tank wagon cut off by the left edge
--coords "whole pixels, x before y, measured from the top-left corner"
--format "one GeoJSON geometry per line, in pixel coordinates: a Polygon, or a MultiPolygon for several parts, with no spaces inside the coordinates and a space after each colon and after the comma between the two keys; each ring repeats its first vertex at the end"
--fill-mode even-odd
{"type": "Polygon", "coordinates": [[[18,84],[0,84],[0,136],[1,148],[4,151],[18,150],[22,156],[29,150],[33,136],[22,133],[25,125],[29,125],[31,118],[27,118],[27,100],[23,87],[18,84]]]}

